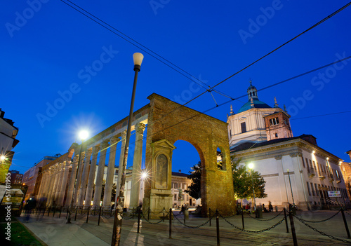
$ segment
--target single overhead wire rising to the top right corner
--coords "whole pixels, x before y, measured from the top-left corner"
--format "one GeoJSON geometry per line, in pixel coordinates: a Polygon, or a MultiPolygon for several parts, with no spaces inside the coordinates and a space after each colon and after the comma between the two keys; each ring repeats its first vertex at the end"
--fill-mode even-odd
{"type": "MultiPolygon", "coordinates": [[[[219,83],[217,83],[215,86],[212,86],[211,88],[209,88],[208,90],[213,90],[213,88],[219,86],[221,83],[227,81],[228,79],[232,78],[233,76],[239,74],[241,71],[244,71],[245,69],[251,67],[253,64],[255,64],[256,62],[262,60],[263,58],[267,57],[268,55],[274,53],[274,51],[279,50],[279,48],[282,48],[283,46],[285,46],[286,44],[290,43],[291,41],[293,41],[294,39],[297,39],[299,36],[305,34],[306,32],[310,31],[311,29],[313,29],[314,27],[317,27],[318,25],[322,24],[323,22],[325,22],[326,20],[328,20],[329,18],[333,17],[333,15],[336,15],[337,13],[339,13],[340,11],[343,11],[345,8],[347,8],[348,6],[351,5],[351,2],[349,2],[348,4],[346,4],[345,6],[339,8],[337,11],[331,13],[331,15],[328,15],[326,18],[324,18],[323,20],[320,20],[319,22],[317,22],[316,24],[312,25],[312,27],[306,29],[305,31],[301,32],[300,34],[298,34],[297,36],[293,37],[293,39],[290,39],[289,41],[286,41],[285,43],[283,43],[281,46],[275,48],[274,50],[270,51],[270,53],[267,53],[266,55],[263,55],[263,57],[260,57],[258,60],[256,60],[255,62],[252,62],[251,64],[247,65],[246,67],[244,67],[243,69],[240,69],[239,71],[237,71],[236,73],[232,74],[231,76],[225,78],[223,81],[220,81],[219,83]]],[[[199,94],[197,97],[200,97],[201,95],[204,95],[206,92],[199,94]]],[[[192,102],[193,100],[195,100],[197,97],[194,97],[192,100],[190,100],[189,102],[192,102]]],[[[188,104],[189,102],[186,102],[185,104],[188,104]]],[[[183,105],[185,105],[183,104],[183,105]]]]}

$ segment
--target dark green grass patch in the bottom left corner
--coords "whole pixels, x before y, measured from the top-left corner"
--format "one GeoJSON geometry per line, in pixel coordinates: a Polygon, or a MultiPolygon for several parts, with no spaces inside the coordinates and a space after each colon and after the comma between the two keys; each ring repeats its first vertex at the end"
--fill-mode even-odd
{"type": "Polygon", "coordinates": [[[34,238],[34,236],[27,231],[27,229],[18,222],[15,217],[11,217],[11,241],[6,240],[7,235],[6,228],[7,223],[4,219],[0,222],[0,233],[1,233],[1,245],[11,245],[11,246],[24,246],[24,245],[38,245],[42,244],[34,238]],[[3,242],[5,244],[3,244],[3,242]]]}

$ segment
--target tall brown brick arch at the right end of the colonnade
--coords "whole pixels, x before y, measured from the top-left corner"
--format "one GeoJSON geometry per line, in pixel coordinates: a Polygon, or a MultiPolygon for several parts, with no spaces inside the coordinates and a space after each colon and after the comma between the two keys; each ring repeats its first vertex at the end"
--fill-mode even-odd
{"type": "MultiPolygon", "coordinates": [[[[190,142],[201,160],[201,200],[203,215],[208,208],[221,214],[233,214],[235,201],[230,165],[227,123],[152,94],[147,122],[146,168],[151,178],[145,184],[143,210],[166,210],[172,206],[171,167],[173,144],[190,142]],[[222,151],[223,165],[218,168],[217,149],[222,151]]],[[[186,161],[186,160],[185,160],[186,161]]]]}

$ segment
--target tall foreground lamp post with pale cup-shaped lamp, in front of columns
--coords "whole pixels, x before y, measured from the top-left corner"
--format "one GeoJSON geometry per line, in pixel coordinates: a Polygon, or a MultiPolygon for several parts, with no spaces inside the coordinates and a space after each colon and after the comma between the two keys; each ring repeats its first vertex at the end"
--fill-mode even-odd
{"type": "Polygon", "coordinates": [[[121,183],[119,186],[119,195],[117,197],[117,207],[114,212],[114,224],[113,224],[112,242],[111,242],[112,246],[119,245],[119,242],[121,240],[121,228],[122,228],[122,220],[123,220],[122,216],[123,216],[123,206],[124,206],[124,183],[126,182],[126,165],[127,165],[127,158],[128,158],[129,138],[131,137],[131,123],[133,118],[136,82],[138,80],[138,72],[140,71],[140,66],[141,66],[141,62],[143,62],[143,58],[144,58],[144,55],[141,53],[133,54],[135,74],[134,74],[133,92],[132,92],[132,98],[131,98],[131,109],[129,111],[129,117],[128,117],[126,146],[124,148],[122,168],[120,169],[122,172],[121,183]]]}

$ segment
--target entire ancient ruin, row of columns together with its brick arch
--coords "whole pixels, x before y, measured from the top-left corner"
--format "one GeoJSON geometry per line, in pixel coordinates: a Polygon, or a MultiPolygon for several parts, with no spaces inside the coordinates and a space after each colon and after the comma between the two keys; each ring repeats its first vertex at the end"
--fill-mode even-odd
{"type": "MultiPolygon", "coordinates": [[[[150,104],[134,111],[132,118],[131,129],[135,131],[135,143],[128,207],[135,208],[140,204],[140,174],[142,173],[143,139],[145,139],[143,134],[145,125],[147,125],[145,165],[151,177],[145,180],[143,210],[150,208],[152,212],[159,212],[164,208],[166,210],[171,208],[172,153],[175,149],[173,144],[177,140],[185,140],[197,149],[201,160],[203,215],[206,216],[208,208],[218,209],[223,215],[233,214],[235,202],[227,123],[157,94],[152,94],[147,98],[150,104]],[[223,165],[220,167],[217,165],[218,148],[223,155],[223,165]]],[[[83,144],[73,144],[62,158],[51,161],[43,167],[43,186],[47,186],[48,189],[41,189],[38,198],[51,197],[50,194],[60,192],[62,193],[60,204],[65,200],[65,204],[62,204],[65,207],[77,205],[87,208],[91,205],[93,207],[102,205],[105,209],[110,209],[111,205],[116,202],[111,200],[112,185],[116,181],[114,167],[118,159],[119,163],[123,160],[127,121],[128,117],[125,117],[91,139],[86,139],[83,144]],[[120,146],[119,158],[117,157],[117,144],[120,146]],[[110,153],[108,160],[107,150],[110,153]],[[72,157],[74,158],[71,162],[72,157]],[[104,177],[106,163],[108,163],[108,168],[104,177]],[[65,168],[62,168],[64,164],[65,168]],[[104,179],[106,183],[102,200],[104,179]],[[61,187],[62,183],[67,185],[61,187]]],[[[117,194],[121,173],[119,170],[117,194]]],[[[150,215],[154,216],[154,213],[150,215]]]]}

